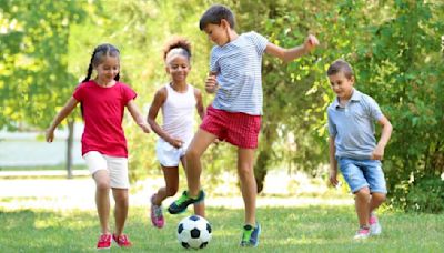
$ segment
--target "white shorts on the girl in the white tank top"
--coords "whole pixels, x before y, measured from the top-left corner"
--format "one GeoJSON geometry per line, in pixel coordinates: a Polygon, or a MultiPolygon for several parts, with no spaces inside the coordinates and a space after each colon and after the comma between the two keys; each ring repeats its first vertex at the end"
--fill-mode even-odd
{"type": "Polygon", "coordinates": [[[185,155],[190,142],[184,143],[180,149],[175,149],[163,139],[159,139],[155,144],[155,155],[162,166],[179,166],[180,159],[185,155]]]}

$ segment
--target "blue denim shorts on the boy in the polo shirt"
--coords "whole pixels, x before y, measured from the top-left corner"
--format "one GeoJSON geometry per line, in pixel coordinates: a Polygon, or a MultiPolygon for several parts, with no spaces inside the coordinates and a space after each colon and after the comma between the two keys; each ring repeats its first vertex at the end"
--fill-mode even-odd
{"type": "Polygon", "coordinates": [[[370,192],[387,193],[381,161],[339,158],[337,162],[353,193],[365,186],[369,186],[370,192]]]}

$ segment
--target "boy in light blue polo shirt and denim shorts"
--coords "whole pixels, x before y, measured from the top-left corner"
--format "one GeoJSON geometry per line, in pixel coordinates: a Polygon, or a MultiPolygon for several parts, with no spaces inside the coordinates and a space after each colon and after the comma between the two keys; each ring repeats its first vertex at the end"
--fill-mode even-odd
{"type": "Polygon", "coordinates": [[[355,195],[360,229],[354,239],[367,239],[381,234],[382,230],[374,211],[385,201],[387,193],[381,160],[392,134],[392,124],[371,97],[353,88],[354,74],[346,61],[336,60],[326,73],[336,93],[336,99],[327,108],[330,182],[333,185],[339,183],[339,163],[355,195]],[[377,144],[374,121],[383,128],[377,144]]]}

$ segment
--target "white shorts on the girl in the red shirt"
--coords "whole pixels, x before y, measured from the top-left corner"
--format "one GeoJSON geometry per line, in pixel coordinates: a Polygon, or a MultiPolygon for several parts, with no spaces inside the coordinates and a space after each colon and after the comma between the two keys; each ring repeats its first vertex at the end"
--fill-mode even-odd
{"type": "Polygon", "coordinates": [[[129,189],[128,159],[101,154],[98,151],[90,151],[83,155],[91,175],[100,170],[108,171],[111,188],[129,189]]]}

